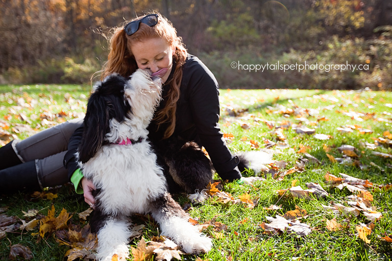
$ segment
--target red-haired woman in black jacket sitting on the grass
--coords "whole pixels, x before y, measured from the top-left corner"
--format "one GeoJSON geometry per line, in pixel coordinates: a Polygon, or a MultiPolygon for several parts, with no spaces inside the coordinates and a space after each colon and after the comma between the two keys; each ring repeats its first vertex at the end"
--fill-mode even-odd
{"type": "MultiPolygon", "coordinates": [[[[175,28],[160,14],[149,14],[115,29],[101,79],[111,73],[126,77],[138,68],[149,69],[164,82],[163,100],[148,127],[150,141],[158,148],[170,137],[196,141],[205,147],[223,180],[241,179],[239,160],[230,153],[218,126],[218,83],[197,57],[187,53],[175,28]]],[[[0,158],[5,162],[0,165],[0,191],[63,184],[68,180],[66,167],[76,190],[80,183],[85,201],[92,206],[94,186],[83,178],[74,159],[83,132],[81,122],[63,123],[1,148],[0,158]],[[48,152],[48,144],[56,145],[54,151],[48,152]],[[34,151],[42,155],[36,157],[34,151]]]]}

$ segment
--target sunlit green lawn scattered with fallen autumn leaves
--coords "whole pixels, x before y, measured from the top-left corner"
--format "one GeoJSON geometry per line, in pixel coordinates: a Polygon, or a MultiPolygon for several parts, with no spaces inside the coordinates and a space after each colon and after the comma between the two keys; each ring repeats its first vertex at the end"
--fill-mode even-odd
{"type": "MultiPolygon", "coordinates": [[[[0,123],[3,131],[23,139],[47,128],[50,124],[45,125],[42,119],[48,114],[55,116],[51,119],[53,122],[71,119],[85,110],[89,90],[90,87],[77,85],[0,86],[0,123]],[[17,112],[17,116],[14,116],[14,112],[17,112]],[[23,121],[20,114],[24,114],[29,122],[23,121]],[[15,126],[18,124],[29,127],[18,133],[15,132],[15,126]]],[[[336,176],[345,173],[380,185],[392,182],[392,159],[372,154],[374,151],[392,154],[391,145],[381,145],[373,149],[366,146],[367,143],[374,144],[385,132],[392,131],[391,103],[392,93],[388,92],[221,90],[220,125],[223,133],[233,137],[227,139],[232,151],[254,150],[255,144],[259,149],[265,149],[268,139],[277,142],[270,147],[270,151],[274,153],[273,159],[286,163],[281,171],[295,167],[296,162],[304,158],[304,153],[298,153],[301,147],[305,147],[305,151],[316,157],[321,164],[306,164],[301,172],[287,175],[283,180],[277,180],[267,174],[266,180],[252,185],[224,184],[223,191],[231,193],[234,198],[248,193],[251,199],[257,200],[254,208],[246,207],[245,204],[222,204],[216,196],[209,197],[201,205],[194,205],[189,213],[200,224],[221,222],[226,225],[226,229],[221,232],[217,232],[212,226],[204,231],[214,238],[214,246],[211,252],[200,255],[201,260],[391,260],[392,243],[381,237],[392,237],[392,190],[370,190],[374,197],[371,203],[383,216],[374,222],[375,226],[368,236],[369,243],[359,238],[356,231],[356,226],[361,223],[370,223],[363,215],[346,217],[333,214],[322,207],[332,205],[332,202],[346,205],[344,198],[352,194],[349,190],[330,188],[325,184],[324,175],[327,172],[336,176]],[[298,118],[291,109],[302,113],[302,117],[298,118]],[[294,124],[314,128],[316,133],[330,135],[330,139],[319,140],[314,135],[298,134],[293,128],[294,124]],[[274,133],[275,128],[281,125],[289,126],[282,130],[283,141],[279,141],[274,133]],[[338,127],[346,125],[357,125],[357,129],[362,127],[371,130],[371,133],[361,133],[357,129],[351,133],[338,131],[338,127]],[[247,129],[244,128],[246,126],[247,129]],[[359,155],[356,160],[366,168],[329,160],[326,149],[333,157],[342,158],[343,154],[338,147],[343,144],[356,148],[359,155]],[[295,186],[304,189],[308,182],[319,183],[329,195],[321,199],[299,199],[277,194],[277,190],[291,188],[293,182],[296,182],[295,186]],[[265,209],[274,204],[280,205],[281,209],[272,212],[265,209]],[[300,222],[312,228],[309,235],[298,237],[288,233],[265,233],[260,225],[268,223],[267,216],[283,215],[294,210],[295,206],[307,212],[300,222]],[[333,218],[343,225],[339,231],[329,231],[326,228],[326,221],[333,218]]],[[[253,174],[244,173],[244,176],[249,175],[253,174]]],[[[28,220],[22,211],[36,209],[40,210],[39,214],[47,215],[50,205],[54,204],[56,216],[65,208],[69,213],[74,213],[70,223],[83,225],[77,218],[77,213],[86,210],[88,206],[73,192],[72,187],[65,185],[50,191],[57,193],[58,197],[53,200],[37,200],[31,199],[31,193],[27,192],[2,195],[0,207],[8,207],[4,212],[8,216],[16,215],[20,219],[28,220]]],[[[188,201],[185,195],[176,195],[175,198],[180,204],[188,201]]],[[[146,241],[159,235],[157,225],[148,220],[148,216],[133,218],[136,224],[146,225],[142,235],[146,241]]],[[[31,233],[37,232],[36,228],[28,233],[7,233],[6,237],[0,240],[0,260],[7,260],[10,246],[14,244],[28,246],[34,256],[32,260],[63,260],[69,247],[60,246],[53,235],[36,243],[37,236],[32,236],[31,233]]],[[[139,240],[140,237],[133,238],[130,245],[136,247],[139,240]]],[[[182,260],[196,260],[196,257],[184,255],[182,260]]]]}

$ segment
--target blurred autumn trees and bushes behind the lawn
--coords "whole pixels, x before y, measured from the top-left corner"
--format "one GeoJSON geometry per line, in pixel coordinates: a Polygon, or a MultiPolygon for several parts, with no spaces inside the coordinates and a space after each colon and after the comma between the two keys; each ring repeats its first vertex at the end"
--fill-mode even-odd
{"type": "Polygon", "coordinates": [[[222,87],[379,87],[377,78],[381,86],[392,85],[387,76],[392,75],[391,1],[0,0],[0,9],[0,82],[89,82],[106,60],[110,28],[156,10],[172,21],[189,52],[203,59],[222,87]],[[371,71],[282,74],[230,68],[235,60],[304,59],[368,61],[371,71]]]}

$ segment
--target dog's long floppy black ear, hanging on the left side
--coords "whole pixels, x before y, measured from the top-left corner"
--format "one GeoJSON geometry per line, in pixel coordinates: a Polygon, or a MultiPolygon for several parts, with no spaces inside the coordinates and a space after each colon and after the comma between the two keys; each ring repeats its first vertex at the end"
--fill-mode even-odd
{"type": "Polygon", "coordinates": [[[102,146],[109,124],[109,114],[104,96],[93,93],[84,117],[82,141],[79,145],[79,161],[88,162],[102,146]]]}

